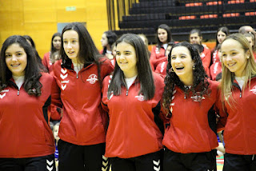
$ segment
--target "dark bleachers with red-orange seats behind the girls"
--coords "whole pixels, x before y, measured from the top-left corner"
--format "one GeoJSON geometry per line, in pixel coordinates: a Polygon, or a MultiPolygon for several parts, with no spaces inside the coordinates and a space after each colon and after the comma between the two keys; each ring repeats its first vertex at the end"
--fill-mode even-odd
{"type": "Polygon", "coordinates": [[[256,0],[139,0],[122,16],[117,34],[146,34],[155,43],[155,30],[160,24],[170,26],[175,41],[188,38],[190,30],[202,30],[204,38],[214,39],[220,26],[231,33],[240,26],[256,27],[256,0]]]}

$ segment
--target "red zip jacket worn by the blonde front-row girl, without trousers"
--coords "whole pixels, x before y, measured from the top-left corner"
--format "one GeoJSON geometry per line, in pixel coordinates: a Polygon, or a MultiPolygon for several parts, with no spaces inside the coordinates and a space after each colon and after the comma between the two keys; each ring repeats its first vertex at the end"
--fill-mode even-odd
{"type": "Polygon", "coordinates": [[[220,121],[226,122],[224,141],[226,153],[256,154],[256,77],[250,80],[244,93],[234,80],[232,96],[236,101],[233,108],[227,103],[226,113],[220,113],[220,121]]]}

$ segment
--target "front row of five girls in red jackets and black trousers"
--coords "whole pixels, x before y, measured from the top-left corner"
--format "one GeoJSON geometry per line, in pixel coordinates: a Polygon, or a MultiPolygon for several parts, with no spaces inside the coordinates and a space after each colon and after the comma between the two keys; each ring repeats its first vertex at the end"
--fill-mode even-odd
{"type": "Polygon", "coordinates": [[[255,170],[256,66],[244,36],[234,34],[222,42],[221,97],[218,82],[206,79],[198,50],[190,43],[170,50],[164,85],[152,73],[137,35],[124,34],[116,42],[111,76],[110,61],[100,57],[82,24],[66,26],[61,40],[62,61],[54,63],[54,79],[40,73],[25,38],[12,36],[2,46],[0,169],[51,167],[54,141],[46,109],[52,86],[52,102],[63,109],[59,170],[101,170],[106,157],[113,171],[216,170],[212,149],[218,141],[208,123],[214,103],[221,116],[218,130],[225,129],[224,170],[255,170]],[[107,132],[103,109],[110,117],[107,132]]]}

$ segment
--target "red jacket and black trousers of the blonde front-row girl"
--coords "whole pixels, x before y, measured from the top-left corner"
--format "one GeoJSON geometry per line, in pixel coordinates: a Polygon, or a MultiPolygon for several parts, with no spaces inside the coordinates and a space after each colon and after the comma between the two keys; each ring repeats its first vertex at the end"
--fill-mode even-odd
{"type": "Polygon", "coordinates": [[[220,113],[220,122],[225,125],[224,168],[225,171],[256,170],[256,77],[250,80],[244,93],[234,80],[231,94],[235,105],[225,102],[226,114],[220,113]]]}

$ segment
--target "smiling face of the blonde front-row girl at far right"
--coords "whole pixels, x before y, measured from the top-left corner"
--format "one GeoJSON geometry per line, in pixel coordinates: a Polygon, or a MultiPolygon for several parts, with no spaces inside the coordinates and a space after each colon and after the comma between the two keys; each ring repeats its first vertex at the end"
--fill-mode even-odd
{"type": "Polygon", "coordinates": [[[249,56],[250,54],[248,52],[246,54],[238,41],[230,38],[222,42],[222,62],[235,76],[245,75],[247,57],[249,56]]]}

